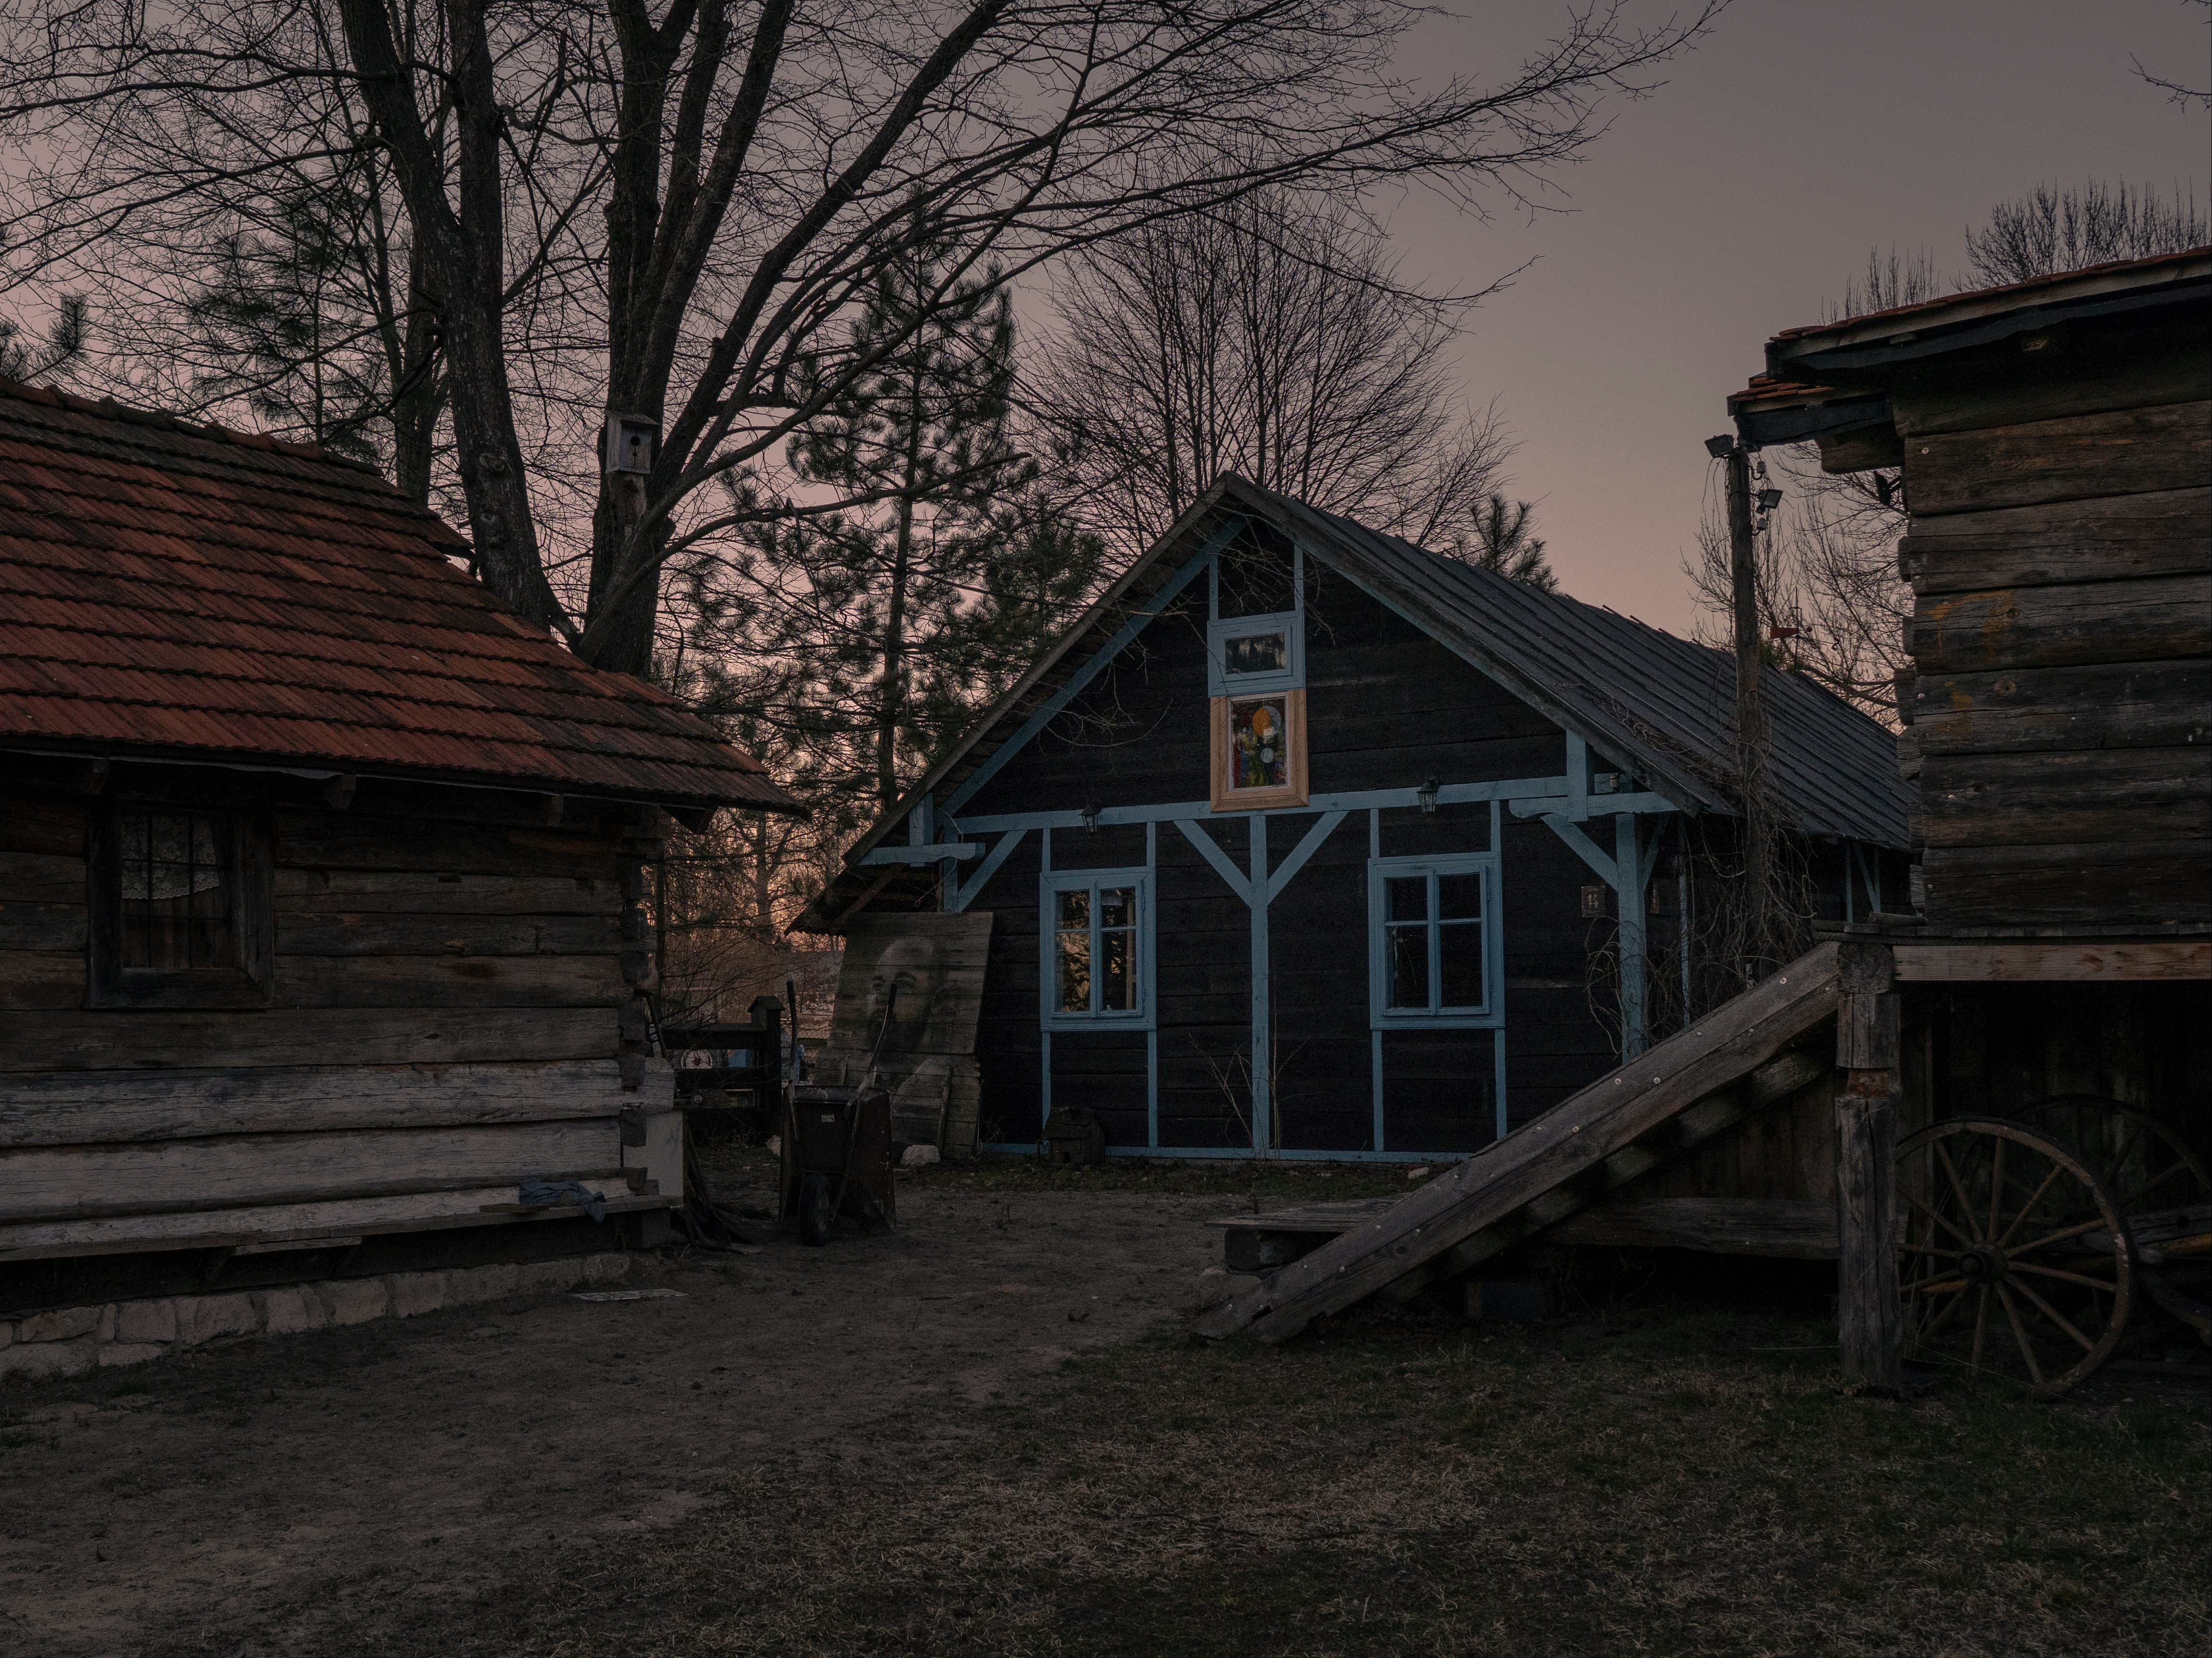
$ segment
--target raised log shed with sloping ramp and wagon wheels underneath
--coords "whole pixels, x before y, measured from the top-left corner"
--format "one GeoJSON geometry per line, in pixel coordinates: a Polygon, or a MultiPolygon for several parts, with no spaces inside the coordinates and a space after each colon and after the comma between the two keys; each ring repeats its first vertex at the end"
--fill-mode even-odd
{"type": "Polygon", "coordinates": [[[1736,440],[1909,511],[1924,911],[1832,928],[1217,1333],[1582,1238],[1834,1258],[1878,1386],[1907,1349],[2066,1386],[2152,1302],[2212,1335],[2212,248],[1765,354],[1736,440]],[[1776,1205],[1778,1127],[1816,1205],[1776,1205]]]}

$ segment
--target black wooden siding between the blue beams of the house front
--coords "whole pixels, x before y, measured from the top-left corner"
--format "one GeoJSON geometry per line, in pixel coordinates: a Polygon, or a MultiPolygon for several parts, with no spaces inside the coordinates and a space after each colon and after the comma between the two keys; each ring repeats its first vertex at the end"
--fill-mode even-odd
{"type": "MultiPolygon", "coordinates": [[[[1307,752],[1314,794],[1559,776],[1557,725],[1343,579],[1307,566],[1307,752]]],[[[964,816],[1152,805],[1208,796],[1206,595],[1197,584],[964,816]]],[[[1267,829],[1270,867],[1310,816],[1267,829]]],[[[1385,811],[1385,856],[1489,849],[1489,807],[1385,811]]],[[[1250,818],[1201,825],[1239,869],[1250,818]]],[[[1610,825],[1595,825],[1610,849],[1610,825]]],[[[1053,867],[1144,862],[1141,827],[1053,833],[1053,867]]],[[[1250,913],[1172,825],[1157,833],[1159,1143],[1250,1147],[1250,913]]],[[[1597,875],[1542,822],[1504,818],[1509,1112],[1524,1121],[1615,1063],[1617,1026],[1593,1008],[1584,920],[1597,875]]],[[[1374,1145],[1367,1008],[1369,822],[1354,811],[1270,911],[1274,1119],[1285,1150],[1374,1145]]],[[[1037,990],[1040,840],[1024,838],[973,906],[998,917],[978,1059],[987,1141],[1033,1143],[1042,1094],[1037,990]]],[[[1610,911],[1608,911],[1610,915],[1610,911]]],[[[1663,933],[1666,917],[1652,917],[1663,933]]],[[[1387,1032],[1391,1150],[1491,1138],[1493,1035],[1387,1032]]],[[[1146,1143],[1144,1032],[1055,1032],[1053,1108],[1091,1105],[1108,1141],[1146,1143]]]]}

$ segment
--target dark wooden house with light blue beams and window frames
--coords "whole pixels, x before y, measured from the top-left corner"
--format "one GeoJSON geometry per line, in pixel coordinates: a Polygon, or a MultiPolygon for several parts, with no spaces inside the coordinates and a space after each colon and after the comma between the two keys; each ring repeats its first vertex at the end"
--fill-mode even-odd
{"type": "MultiPolygon", "coordinates": [[[[1765,681],[1816,902],[1902,906],[1891,734],[1765,681]]],[[[1223,480],[801,926],[991,913],[987,1145],[1449,1158],[1697,1004],[1732,741],[1725,654],[1223,480]]]]}

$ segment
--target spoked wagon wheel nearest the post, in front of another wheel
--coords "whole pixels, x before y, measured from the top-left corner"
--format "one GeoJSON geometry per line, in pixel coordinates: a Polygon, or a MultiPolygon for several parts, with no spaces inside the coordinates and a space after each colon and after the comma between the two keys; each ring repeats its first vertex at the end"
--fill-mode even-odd
{"type": "Polygon", "coordinates": [[[1898,1293],[1922,1364],[2064,1393],[2119,1344],[2128,1222],[2095,1174],[2024,1123],[1962,1116],[1898,1147],[1898,1293]]]}

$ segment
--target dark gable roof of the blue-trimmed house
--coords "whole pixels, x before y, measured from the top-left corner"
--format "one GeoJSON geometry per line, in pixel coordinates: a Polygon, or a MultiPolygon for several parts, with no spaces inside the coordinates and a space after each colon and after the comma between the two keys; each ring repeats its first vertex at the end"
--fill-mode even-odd
{"type": "MultiPolygon", "coordinates": [[[[834,928],[878,893],[933,884],[927,867],[858,869],[925,798],[951,798],[1057,696],[1230,517],[1256,517],[1318,557],[1686,811],[1734,811],[1734,657],[1632,617],[1447,559],[1290,495],[1219,480],[1044,657],[969,738],[845,853],[801,924],[834,928]],[[905,878],[905,882],[902,882],[905,878]]],[[[1798,829],[1905,847],[1913,789],[1896,738],[1803,674],[1765,668],[1774,785],[1798,829]]]]}

